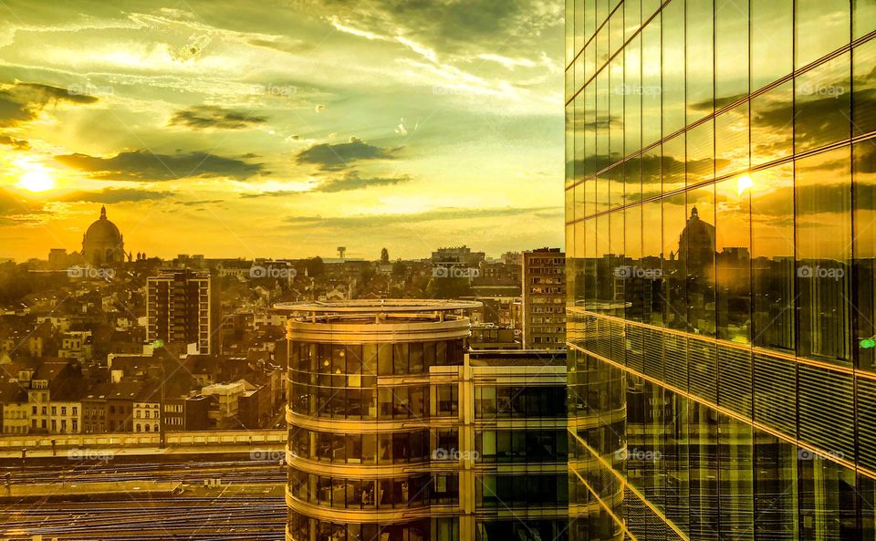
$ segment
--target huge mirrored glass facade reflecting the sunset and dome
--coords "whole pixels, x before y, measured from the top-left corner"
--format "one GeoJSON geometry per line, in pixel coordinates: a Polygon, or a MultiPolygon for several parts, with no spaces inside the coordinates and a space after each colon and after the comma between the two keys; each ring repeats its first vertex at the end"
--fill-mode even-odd
{"type": "Polygon", "coordinates": [[[874,30],[567,0],[570,538],[876,539],[874,30]]]}

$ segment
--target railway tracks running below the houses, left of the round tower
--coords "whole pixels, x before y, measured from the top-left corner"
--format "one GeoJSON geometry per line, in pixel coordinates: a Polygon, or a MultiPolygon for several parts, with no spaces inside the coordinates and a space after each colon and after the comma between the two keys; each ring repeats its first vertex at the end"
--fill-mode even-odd
{"type": "MultiPolygon", "coordinates": [[[[179,481],[224,485],[283,484],[277,462],[72,463],[70,466],[0,468],[0,494],[11,484],[179,481]]],[[[0,505],[0,539],[30,541],[275,541],[284,539],[287,508],[282,497],[230,494],[216,497],[162,496],[150,499],[48,501],[0,505]]]]}

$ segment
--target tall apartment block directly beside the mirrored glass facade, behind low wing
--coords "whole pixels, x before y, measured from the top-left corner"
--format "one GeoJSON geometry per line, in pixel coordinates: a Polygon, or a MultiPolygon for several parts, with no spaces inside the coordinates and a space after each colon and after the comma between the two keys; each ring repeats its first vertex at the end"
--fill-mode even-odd
{"type": "Polygon", "coordinates": [[[557,349],[566,342],[566,255],[559,248],[523,253],[523,347],[557,349]]]}

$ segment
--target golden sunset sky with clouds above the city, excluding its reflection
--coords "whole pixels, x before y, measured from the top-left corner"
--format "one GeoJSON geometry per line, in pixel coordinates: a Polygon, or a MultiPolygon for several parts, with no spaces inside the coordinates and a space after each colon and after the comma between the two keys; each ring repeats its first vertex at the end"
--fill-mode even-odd
{"type": "Polygon", "coordinates": [[[563,3],[0,0],[0,258],[563,236],[563,3]]]}

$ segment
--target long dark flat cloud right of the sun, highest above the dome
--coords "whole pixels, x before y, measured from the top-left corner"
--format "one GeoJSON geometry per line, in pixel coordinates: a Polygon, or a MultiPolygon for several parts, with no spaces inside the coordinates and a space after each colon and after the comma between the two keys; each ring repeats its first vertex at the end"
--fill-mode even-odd
{"type": "Polygon", "coordinates": [[[120,152],[111,158],[87,154],[55,156],[57,161],[89,172],[101,181],[164,182],[196,177],[230,177],[245,180],[262,172],[260,163],[249,163],[206,152],[156,154],[150,151],[120,152]]]}

